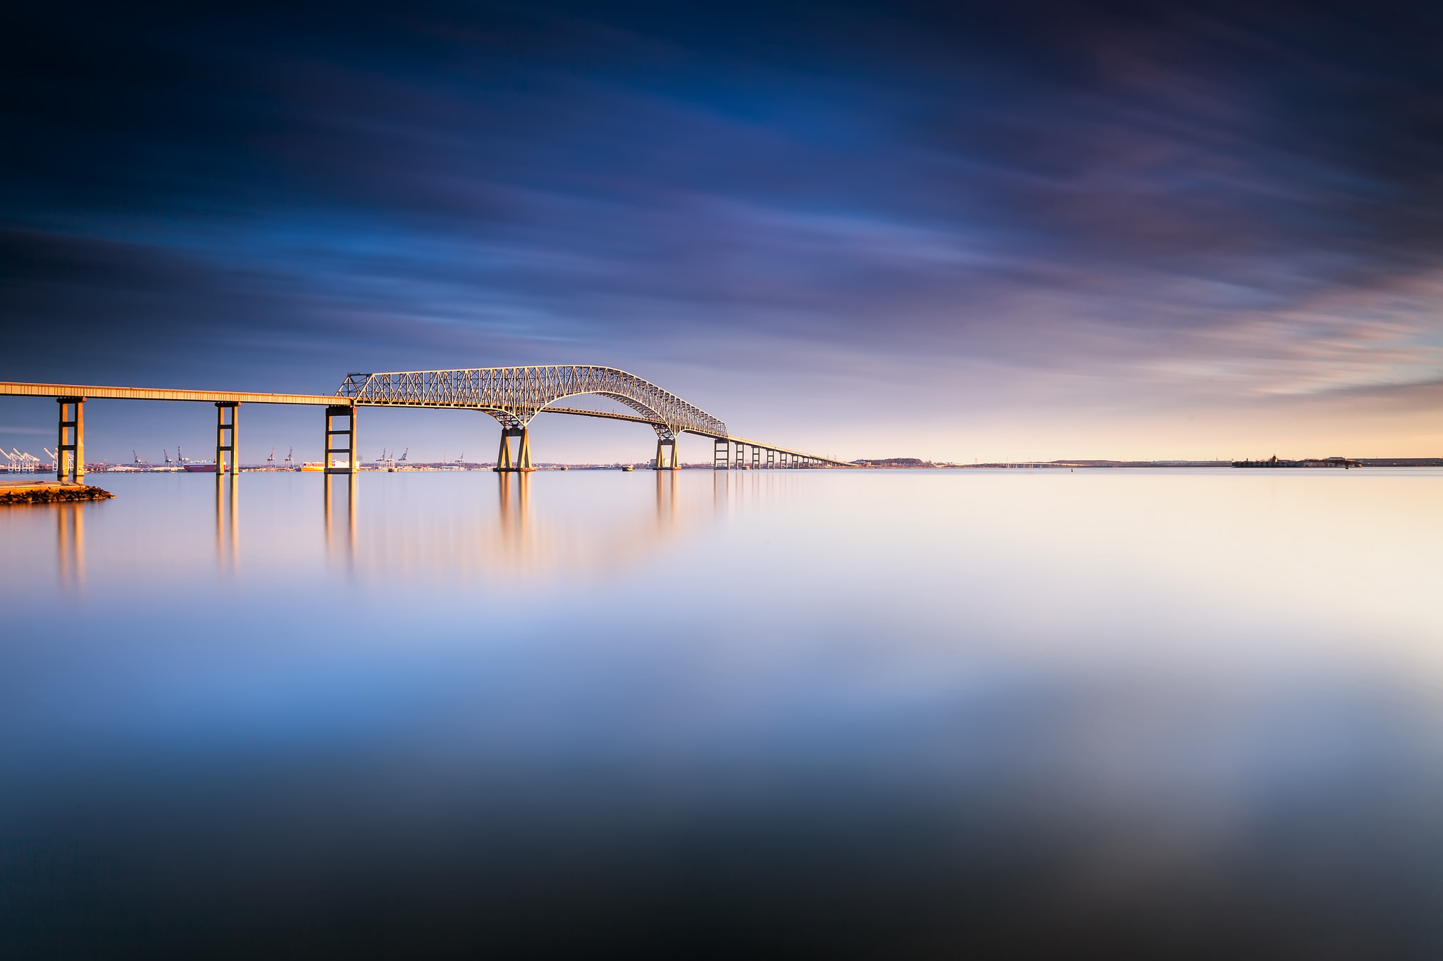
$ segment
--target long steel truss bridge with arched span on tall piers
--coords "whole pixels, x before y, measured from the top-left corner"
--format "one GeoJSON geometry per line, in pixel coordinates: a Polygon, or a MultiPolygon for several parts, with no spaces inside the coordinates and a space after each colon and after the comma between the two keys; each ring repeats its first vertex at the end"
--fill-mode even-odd
{"type": "Polygon", "coordinates": [[[726,424],[649,380],[616,367],[551,365],[534,367],[468,367],[457,370],[398,370],[348,373],[332,395],[258,393],[115,388],[74,383],[0,382],[0,396],[55,398],[59,403],[56,477],[78,483],[85,473],[85,401],[182,401],[215,405],[215,468],[234,475],[240,468],[237,415],[242,403],[284,403],[325,408],[325,471],[359,471],[356,415],[362,406],[447,408],[481,411],[501,425],[496,467],[502,473],[535,470],[531,461],[530,425],[538,414],[608,418],[645,424],[657,432],[655,470],[678,470],[677,438],[681,434],[713,441],[714,470],[763,467],[851,467],[817,454],[733,437],[726,424]],[[633,414],[554,406],[583,395],[616,401],[633,414]],[[343,422],[343,424],[342,424],[343,422]],[[338,426],[338,424],[342,424],[338,426]],[[512,444],[515,442],[515,444],[512,444]],[[734,451],[734,452],[733,452],[734,451]],[[345,461],[341,461],[345,455],[345,461]]]}

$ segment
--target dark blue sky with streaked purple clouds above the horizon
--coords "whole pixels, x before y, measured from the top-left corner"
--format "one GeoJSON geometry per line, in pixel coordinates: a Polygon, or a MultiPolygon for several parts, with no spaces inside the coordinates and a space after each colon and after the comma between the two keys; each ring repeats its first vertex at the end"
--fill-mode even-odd
{"type": "MultiPolygon", "coordinates": [[[[1440,27],[1391,3],[9,4],[0,375],[330,393],[597,363],[847,460],[1443,455],[1440,27]]],[[[53,406],[0,398],[0,445],[39,452],[53,406]]],[[[205,451],[212,416],[91,402],[87,454],[205,451]]],[[[538,460],[654,445],[535,428],[538,460]]],[[[367,411],[361,438],[481,460],[496,425],[367,411]]],[[[241,441],[319,458],[320,414],[248,406],[241,441]]]]}

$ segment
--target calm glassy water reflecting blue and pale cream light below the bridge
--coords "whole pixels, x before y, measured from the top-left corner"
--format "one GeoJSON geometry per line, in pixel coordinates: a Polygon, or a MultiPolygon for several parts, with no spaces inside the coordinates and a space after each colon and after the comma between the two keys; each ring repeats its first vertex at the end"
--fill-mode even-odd
{"type": "Polygon", "coordinates": [[[3,957],[1443,957],[1443,473],[91,480],[3,957]]]}

